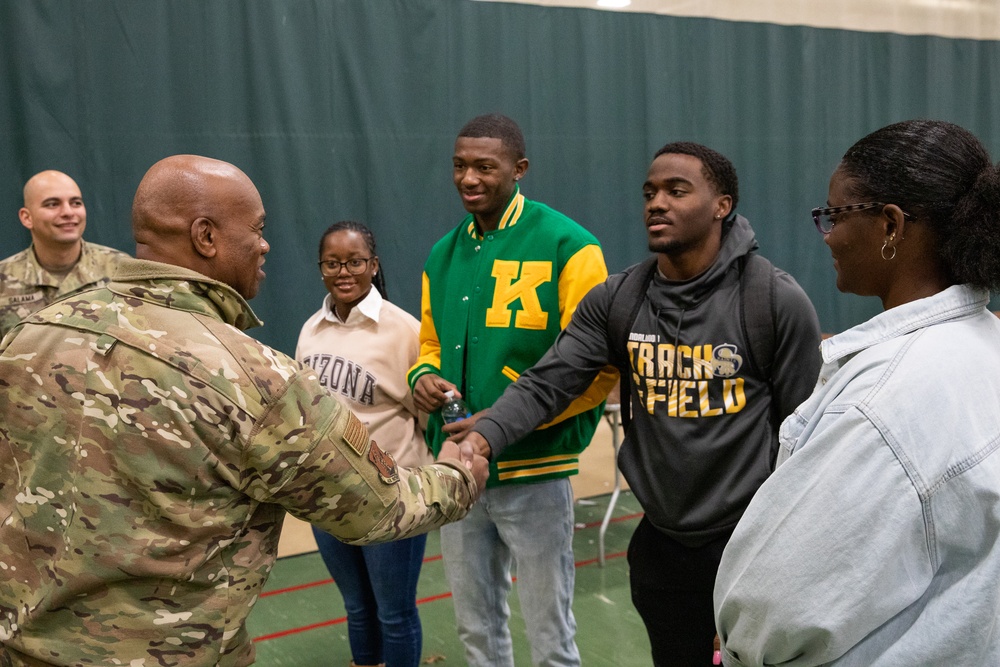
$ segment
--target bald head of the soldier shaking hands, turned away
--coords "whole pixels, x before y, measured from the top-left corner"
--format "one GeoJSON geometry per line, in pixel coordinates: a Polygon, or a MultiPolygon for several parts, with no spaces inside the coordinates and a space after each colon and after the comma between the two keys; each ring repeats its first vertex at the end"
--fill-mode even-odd
{"type": "Polygon", "coordinates": [[[136,257],[197,271],[250,299],[270,250],[264,218],[257,188],[234,165],[198,155],[164,158],[143,176],[132,202],[136,257]]]}

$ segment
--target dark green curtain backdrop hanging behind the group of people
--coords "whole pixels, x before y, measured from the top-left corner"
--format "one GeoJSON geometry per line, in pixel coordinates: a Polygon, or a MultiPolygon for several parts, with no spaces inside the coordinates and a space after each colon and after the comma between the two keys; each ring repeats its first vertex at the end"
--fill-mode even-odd
{"type": "Polygon", "coordinates": [[[837,293],[809,218],[840,156],[933,117],[1000,158],[998,110],[998,42],[468,0],[0,0],[0,256],[29,241],[16,211],[41,169],[80,183],[88,239],[131,252],[153,162],[228,160],[268,211],[255,335],[291,353],[337,220],[373,228],[390,297],[418,314],[424,258],[463,214],[455,134],[499,111],[525,131],[525,194],[592,230],[612,270],[647,254],[653,152],[725,153],[764,254],[837,331],[879,308],[837,293]]]}

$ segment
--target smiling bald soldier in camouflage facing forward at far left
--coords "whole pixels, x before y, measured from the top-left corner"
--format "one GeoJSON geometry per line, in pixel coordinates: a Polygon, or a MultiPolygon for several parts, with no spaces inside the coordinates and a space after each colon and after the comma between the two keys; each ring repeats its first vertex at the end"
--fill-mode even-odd
{"type": "Polygon", "coordinates": [[[87,208],[80,188],[59,171],[24,184],[21,224],[31,246],[0,261],[0,338],[57,297],[106,281],[125,253],[83,240],[87,208]]]}

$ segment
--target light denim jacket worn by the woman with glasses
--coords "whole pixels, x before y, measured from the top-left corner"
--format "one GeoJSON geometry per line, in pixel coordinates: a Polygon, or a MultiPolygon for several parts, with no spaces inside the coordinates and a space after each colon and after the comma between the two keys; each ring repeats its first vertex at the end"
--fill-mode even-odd
{"type": "Polygon", "coordinates": [[[1000,320],[953,286],[823,343],[726,548],[726,665],[1000,665],[1000,320]]]}

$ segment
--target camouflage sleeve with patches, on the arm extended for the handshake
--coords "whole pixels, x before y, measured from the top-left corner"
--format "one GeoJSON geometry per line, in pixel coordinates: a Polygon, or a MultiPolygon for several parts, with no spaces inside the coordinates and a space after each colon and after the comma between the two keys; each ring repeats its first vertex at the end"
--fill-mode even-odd
{"type": "Polygon", "coordinates": [[[307,371],[270,403],[244,456],[248,495],[352,544],[409,537],[457,521],[475,498],[476,482],[458,462],[398,467],[307,371]]]}

